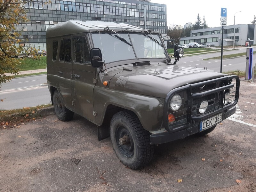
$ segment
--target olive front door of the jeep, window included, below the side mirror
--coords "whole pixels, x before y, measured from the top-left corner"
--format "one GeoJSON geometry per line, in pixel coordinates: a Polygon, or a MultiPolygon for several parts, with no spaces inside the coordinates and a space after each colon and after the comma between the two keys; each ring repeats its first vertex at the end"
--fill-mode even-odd
{"type": "Polygon", "coordinates": [[[72,97],[75,113],[95,121],[93,115],[93,88],[96,69],[92,67],[85,36],[73,37],[73,84],[72,97]]]}

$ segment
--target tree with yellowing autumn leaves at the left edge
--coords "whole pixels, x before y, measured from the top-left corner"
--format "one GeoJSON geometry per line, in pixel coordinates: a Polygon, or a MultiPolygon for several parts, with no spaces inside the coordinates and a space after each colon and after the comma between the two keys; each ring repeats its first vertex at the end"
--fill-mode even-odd
{"type": "Polygon", "coordinates": [[[39,58],[35,48],[16,46],[20,42],[19,32],[15,26],[28,21],[23,4],[33,0],[0,0],[0,85],[13,76],[5,73],[19,74],[20,60],[23,58],[39,58]],[[17,58],[18,55],[23,55],[17,58]]]}

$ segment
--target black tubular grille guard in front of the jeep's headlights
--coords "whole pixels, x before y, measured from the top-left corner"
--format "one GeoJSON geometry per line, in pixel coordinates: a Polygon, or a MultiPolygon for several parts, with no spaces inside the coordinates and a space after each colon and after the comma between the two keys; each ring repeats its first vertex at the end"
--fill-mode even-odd
{"type": "Polygon", "coordinates": [[[164,100],[164,117],[163,117],[163,124],[164,124],[164,128],[169,131],[169,132],[176,132],[182,129],[189,129],[192,125],[193,125],[193,121],[200,121],[204,118],[213,116],[214,114],[220,113],[224,110],[230,109],[234,106],[236,106],[237,102],[238,102],[238,98],[239,98],[239,86],[240,86],[240,79],[238,76],[236,75],[232,75],[232,76],[223,76],[223,77],[219,77],[216,79],[212,79],[212,80],[207,80],[207,81],[203,81],[203,82],[199,82],[199,83],[195,83],[195,84],[186,84],[182,87],[178,87],[173,89],[172,91],[170,91],[165,100],[164,100]],[[234,84],[228,84],[229,80],[231,79],[235,79],[236,80],[236,92],[235,92],[235,98],[234,98],[234,102],[229,103],[225,106],[221,105],[217,110],[213,110],[211,113],[206,113],[206,114],[202,114],[200,116],[195,116],[192,114],[192,105],[193,105],[193,99],[196,98],[202,98],[206,95],[212,94],[212,93],[216,93],[216,92],[221,92],[230,88],[234,87],[234,84]],[[193,93],[192,92],[192,88],[195,87],[199,87],[199,86],[204,86],[207,84],[212,84],[212,83],[217,83],[220,81],[226,81],[227,85],[225,86],[221,86],[221,87],[217,87],[215,89],[212,90],[207,90],[204,92],[200,92],[200,93],[193,93]],[[181,91],[187,91],[187,97],[188,97],[188,108],[187,108],[187,123],[186,124],[181,124],[181,125],[169,125],[168,123],[168,115],[169,115],[169,103],[170,100],[172,98],[172,96],[178,92],[181,91]]]}

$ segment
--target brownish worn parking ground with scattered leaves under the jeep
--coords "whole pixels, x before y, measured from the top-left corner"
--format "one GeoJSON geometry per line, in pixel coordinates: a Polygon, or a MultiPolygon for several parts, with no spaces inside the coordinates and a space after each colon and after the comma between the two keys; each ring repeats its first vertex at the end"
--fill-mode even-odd
{"type": "Polygon", "coordinates": [[[155,146],[153,161],[135,171],[80,116],[0,128],[0,192],[256,192],[255,103],[256,84],[241,78],[232,118],[204,137],[155,146]]]}

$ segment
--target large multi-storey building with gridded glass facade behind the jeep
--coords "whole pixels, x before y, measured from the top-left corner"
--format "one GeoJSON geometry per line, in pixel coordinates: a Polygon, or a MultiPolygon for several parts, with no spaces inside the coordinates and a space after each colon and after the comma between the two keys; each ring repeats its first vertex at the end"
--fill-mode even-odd
{"type": "MultiPolygon", "coordinates": [[[[68,20],[98,20],[127,23],[166,33],[166,5],[139,0],[35,0],[24,4],[29,21],[15,25],[20,45],[46,50],[46,30],[50,25],[68,20]]],[[[19,44],[18,44],[19,45],[19,44]]]]}

